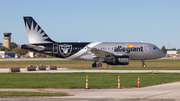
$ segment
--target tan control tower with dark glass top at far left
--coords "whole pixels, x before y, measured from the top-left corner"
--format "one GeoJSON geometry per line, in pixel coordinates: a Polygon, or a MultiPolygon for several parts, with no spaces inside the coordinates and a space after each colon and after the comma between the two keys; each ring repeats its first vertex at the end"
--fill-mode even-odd
{"type": "Polygon", "coordinates": [[[4,46],[11,48],[11,33],[4,33],[4,46]]]}

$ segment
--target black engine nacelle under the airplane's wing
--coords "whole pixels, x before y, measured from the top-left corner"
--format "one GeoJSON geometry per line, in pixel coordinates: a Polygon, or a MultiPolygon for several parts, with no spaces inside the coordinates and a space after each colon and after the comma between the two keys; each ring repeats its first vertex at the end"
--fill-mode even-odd
{"type": "Polygon", "coordinates": [[[113,59],[108,60],[107,64],[109,65],[128,65],[129,64],[129,56],[114,56],[113,59]]]}

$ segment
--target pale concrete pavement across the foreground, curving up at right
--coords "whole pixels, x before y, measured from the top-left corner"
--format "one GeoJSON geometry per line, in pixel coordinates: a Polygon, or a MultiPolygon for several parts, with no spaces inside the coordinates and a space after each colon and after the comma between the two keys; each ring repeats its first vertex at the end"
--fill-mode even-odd
{"type": "Polygon", "coordinates": [[[0,91],[65,92],[72,96],[63,97],[7,97],[0,100],[38,101],[178,101],[180,82],[143,88],[123,89],[0,89],[0,91]]]}

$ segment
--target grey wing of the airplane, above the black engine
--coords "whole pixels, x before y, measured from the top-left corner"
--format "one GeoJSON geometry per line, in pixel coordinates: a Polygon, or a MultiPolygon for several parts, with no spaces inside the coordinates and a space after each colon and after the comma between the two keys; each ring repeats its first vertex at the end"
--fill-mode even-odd
{"type": "Polygon", "coordinates": [[[107,58],[110,57],[112,55],[114,55],[113,53],[104,51],[104,50],[100,50],[97,48],[91,48],[91,52],[94,53],[94,55],[96,55],[96,57],[101,57],[101,58],[107,58]]]}

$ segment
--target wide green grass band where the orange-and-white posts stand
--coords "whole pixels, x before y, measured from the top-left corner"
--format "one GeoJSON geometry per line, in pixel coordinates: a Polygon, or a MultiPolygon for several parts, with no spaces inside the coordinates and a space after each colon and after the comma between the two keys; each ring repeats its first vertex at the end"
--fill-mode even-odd
{"type": "MultiPolygon", "coordinates": [[[[1,73],[0,88],[117,88],[120,75],[121,87],[137,87],[137,73],[1,73]]],[[[180,81],[178,73],[140,73],[141,86],[180,81]]]]}

